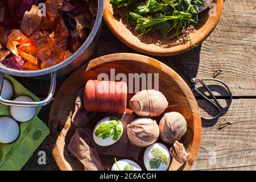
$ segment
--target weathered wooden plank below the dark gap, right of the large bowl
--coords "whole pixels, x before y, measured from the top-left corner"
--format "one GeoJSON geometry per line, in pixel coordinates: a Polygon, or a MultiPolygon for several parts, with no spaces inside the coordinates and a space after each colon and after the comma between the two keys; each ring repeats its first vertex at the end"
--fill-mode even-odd
{"type": "MultiPolygon", "coordinates": [[[[203,101],[199,105],[209,109],[203,101]]],[[[202,121],[202,125],[201,146],[192,170],[256,170],[255,99],[234,100],[223,117],[202,121]],[[218,129],[227,122],[232,125],[218,129]]]]}

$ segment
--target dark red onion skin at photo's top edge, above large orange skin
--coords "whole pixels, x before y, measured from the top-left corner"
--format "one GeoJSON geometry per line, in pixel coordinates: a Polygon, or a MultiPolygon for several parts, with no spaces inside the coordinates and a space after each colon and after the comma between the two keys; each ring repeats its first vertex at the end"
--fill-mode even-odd
{"type": "Polygon", "coordinates": [[[18,3],[16,7],[16,15],[19,18],[22,18],[25,14],[26,11],[29,11],[32,7],[32,5],[38,5],[38,1],[37,0],[22,0],[18,3]]]}

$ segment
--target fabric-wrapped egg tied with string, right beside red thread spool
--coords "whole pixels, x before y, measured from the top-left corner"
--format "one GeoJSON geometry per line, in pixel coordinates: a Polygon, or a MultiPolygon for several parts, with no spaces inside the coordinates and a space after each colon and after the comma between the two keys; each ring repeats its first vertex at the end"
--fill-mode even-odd
{"type": "Polygon", "coordinates": [[[157,117],[168,107],[166,97],[156,90],[142,90],[130,100],[130,107],[140,117],[157,117]]]}

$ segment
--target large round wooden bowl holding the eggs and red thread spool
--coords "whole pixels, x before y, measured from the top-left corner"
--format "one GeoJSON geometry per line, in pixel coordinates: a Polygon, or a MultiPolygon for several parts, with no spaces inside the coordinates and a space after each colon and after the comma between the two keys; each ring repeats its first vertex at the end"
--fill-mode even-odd
{"type": "MultiPolygon", "coordinates": [[[[110,76],[110,69],[112,68],[115,69],[115,75],[118,73],[125,73],[125,75],[129,73],[159,74],[159,91],[166,96],[169,105],[177,105],[169,107],[165,113],[178,111],[184,115],[187,120],[187,132],[181,142],[184,143],[187,152],[191,154],[187,163],[184,164],[172,159],[170,170],[190,169],[196,158],[201,140],[201,118],[195,97],[185,81],[167,65],[151,57],[133,53],[116,53],[98,57],[77,69],[61,86],[49,115],[50,143],[59,168],[61,170],[84,169],[79,160],[72,156],[67,149],[69,140],[76,131],[75,125],[71,123],[71,115],[75,107],[77,90],[83,88],[88,80],[97,80],[100,73],[106,73],[110,76]]],[[[133,96],[134,94],[128,94],[127,100],[130,100],[133,96]]],[[[155,118],[156,121],[159,122],[162,116],[155,118]]],[[[143,167],[143,152],[144,150],[142,150],[139,161],[137,161],[141,167],[143,167]]],[[[113,156],[101,155],[100,157],[106,169],[112,167],[113,156]]]]}

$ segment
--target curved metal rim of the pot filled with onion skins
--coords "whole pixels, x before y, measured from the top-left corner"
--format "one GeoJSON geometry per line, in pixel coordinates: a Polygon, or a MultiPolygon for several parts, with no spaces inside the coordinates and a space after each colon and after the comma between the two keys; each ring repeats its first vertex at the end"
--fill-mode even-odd
{"type": "Polygon", "coordinates": [[[94,26],[92,28],[92,31],[90,32],[88,38],[85,40],[84,44],[82,44],[82,46],[75,53],[73,53],[71,57],[68,57],[68,59],[62,61],[59,64],[54,65],[53,67],[40,69],[38,71],[18,71],[15,69],[7,68],[4,65],[0,64],[0,72],[7,73],[13,76],[20,76],[20,77],[36,77],[36,76],[42,76],[52,72],[56,72],[59,69],[71,64],[73,60],[76,60],[81,55],[81,53],[83,53],[89,47],[94,37],[96,36],[101,26],[101,20],[103,15],[103,8],[104,8],[103,5],[104,5],[104,2],[102,0],[98,0],[97,17],[96,17],[94,26]]]}

